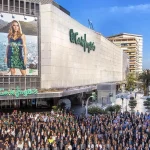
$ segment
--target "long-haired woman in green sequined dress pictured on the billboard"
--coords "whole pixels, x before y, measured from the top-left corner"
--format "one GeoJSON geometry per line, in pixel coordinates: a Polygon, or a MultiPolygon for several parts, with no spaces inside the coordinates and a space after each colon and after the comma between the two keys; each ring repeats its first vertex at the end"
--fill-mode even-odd
{"type": "Polygon", "coordinates": [[[10,69],[11,75],[16,74],[15,68],[18,68],[22,75],[26,75],[26,39],[22,33],[20,23],[16,20],[13,20],[10,24],[5,62],[10,69]]]}

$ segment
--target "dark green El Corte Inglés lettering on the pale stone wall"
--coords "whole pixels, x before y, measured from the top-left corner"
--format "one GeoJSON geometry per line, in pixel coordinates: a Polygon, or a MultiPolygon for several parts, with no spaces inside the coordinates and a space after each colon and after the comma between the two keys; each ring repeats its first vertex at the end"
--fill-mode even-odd
{"type": "Polygon", "coordinates": [[[90,51],[95,51],[95,45],[94,42],[87,42],[86,41],[86,34],[84,34],[84,37],[77,37],[78,32],[74,32],[73,29],[70,29],[69,36],[70,36],[70,42],[75,43],[78,45],[81,45],[84,48],[84,52],[86,52],[86,49],[88,49],[88,53],[90,51]]]}

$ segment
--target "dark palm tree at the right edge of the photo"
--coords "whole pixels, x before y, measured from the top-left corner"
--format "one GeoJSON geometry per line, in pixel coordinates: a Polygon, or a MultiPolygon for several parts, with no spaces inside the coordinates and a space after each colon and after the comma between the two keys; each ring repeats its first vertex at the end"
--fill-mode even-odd
{"type": "Polygon", "coordinates": [[[146,69],[139,75],[139,80],[143,82],[144,95],[147,95],[147,89],[150,84],[150,70],[146,69]]]}

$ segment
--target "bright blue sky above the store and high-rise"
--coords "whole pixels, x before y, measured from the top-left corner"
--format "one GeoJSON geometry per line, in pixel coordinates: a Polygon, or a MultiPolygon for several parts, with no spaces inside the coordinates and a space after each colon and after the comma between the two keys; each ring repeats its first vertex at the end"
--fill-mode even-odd
{"type": "Polygon", "coordinates": [[[119,33],[143,36],[143,69],[150,69],[150,0],[55,0],[71,17],[104,36],[119,33]]]}

